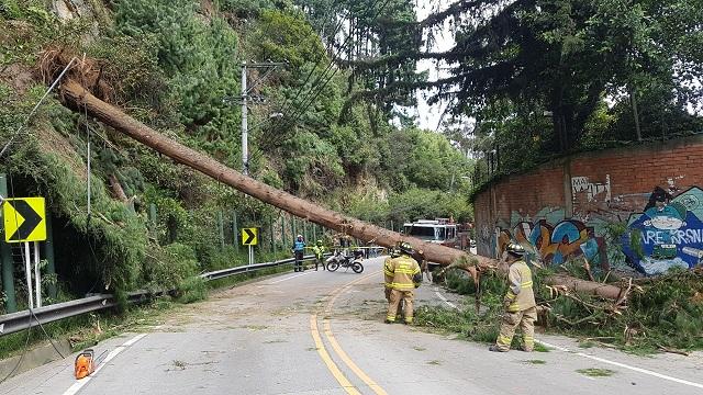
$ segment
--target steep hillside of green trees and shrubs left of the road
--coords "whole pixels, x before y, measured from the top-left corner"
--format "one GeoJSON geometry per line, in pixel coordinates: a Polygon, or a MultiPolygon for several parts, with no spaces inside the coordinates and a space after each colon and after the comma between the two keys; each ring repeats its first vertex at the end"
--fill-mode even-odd
{"type": "MultiPolygon", "coordinates": [[[[261,226],[258,260],[272,257],[271,237],[278,251],[290,242],[280,234],[278,211],[165,160],[86,117],[82,109],[67,110],[56,92],[24,125],[74,56],[80,64],[67,78],[233,168],[241,167],[241,64],[286,61],[252,92],[268,99],[250,106],[255,178],[383,226],[471,217],[462,178],[470,161],[444,136],[405,117],[403,126],[393,126],[400,115],[381,98],[350,100],[384,77],[327,72],[326,47],[336,33],[316,8],[334,9],[330,16],[357,14],[367,32],[384,32],[378,50],[394,50],[408,42],[394,35],[400,30],[389,19],[414,19],[412,7],[377,4],[373,15],[356,2],[306,4],[309,13],[301,4],[306,2],[90,1],[59,16],[44,1],[0,0],[0,144],[23,127],[0,171],[10,174],[13,195],[47,198],[54,227],[62,229],[55,240],[62,300],[113,292],[124,301],[136,289],[176,290],[186,303],[201,300],[207,286],[197,274],[246,261],[244,249],[232,246],[234,214],[239,227],[261,226]],[[276,112],[283,117],[269,119],[276,112]]],[[[393,75],[413,69],[409,64],[393,75]]],[[[250,82],[265,72],[250,70],[250,82]]],[[[414,92],[397,97],[411,104],[414,92]]],[[[23,301],[20,280],[16,287],[23,301]]]]}

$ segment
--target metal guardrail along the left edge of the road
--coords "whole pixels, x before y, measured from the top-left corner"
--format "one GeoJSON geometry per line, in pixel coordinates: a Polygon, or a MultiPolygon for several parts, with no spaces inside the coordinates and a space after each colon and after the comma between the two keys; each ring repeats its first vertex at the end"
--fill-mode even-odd
{"type": "MultiPolygon", "coordinates": [[[[303,260],[314,259],[314,256],[306,256],[303,260]]],[[[245,264],[228,269],[215,270],[208,273],[202,273],[200,276],[205,281],[220,280],[230,275],[255,272],[257,270],[275,268],[283,264],[290,264],[295,261],[294,258],[282,259],[274,262],[245,264]]],[[[127,294],[127,302],[144,303],[154,297],[161,296],[170,291],[135,291],[127,294]]],[[[60,320],[64,318],[70,318],[79,316],[81,314],[97,312],[118,305],[114,295],[111,294],[98,294],[75,301],[57,303],[45,307],[34,308],[32,311],[22,311],[0,316],[0,336],[18,332],[20,330],[33,328],[42,325],[60,320]]]]}

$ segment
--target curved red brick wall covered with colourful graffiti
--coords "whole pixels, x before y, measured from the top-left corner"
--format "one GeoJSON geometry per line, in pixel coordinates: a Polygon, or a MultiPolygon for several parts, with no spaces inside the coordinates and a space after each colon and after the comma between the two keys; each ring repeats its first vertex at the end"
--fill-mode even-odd
{"type": "Polygon", "coordinates": [[[691,267],[703,259],[695,233],[703,233],[699,187],[699,136],[562,158],[505,177],[476,196],[478,250],[495,256],[512,239],[545,261],[581,256],[645,272],[647,266],[691,267]],[[657,196],[662,201],[658,208],[645,213],[657,196]],[[627,230],[614,232],[612,224],[627,230]]]}

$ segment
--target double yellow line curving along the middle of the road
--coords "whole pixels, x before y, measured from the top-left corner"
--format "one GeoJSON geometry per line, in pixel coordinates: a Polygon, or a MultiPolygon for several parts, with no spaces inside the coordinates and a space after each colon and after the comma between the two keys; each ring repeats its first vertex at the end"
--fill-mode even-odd
{"type": "MultiPolygon", "coordinates": [[[[335,291],[331,295],[331,298],[325,305],[325,309],[324,309],[325,318],[323,318],[323,327],[324,327],[323,335],[327,339],[327,342],[330,342],[330,345],[332,346],[332,349],[334,350],[335,354],[347,365],[347,368],[349,368],[352,372],[354,372],[354,374],[357,375],[357,377],[359,377],[366,385],[368,385],[369,388],[373,391],[373,393],[376,393],[377,395],[388,395],[388,393],[383,391],[383,388],[381,388],[381,386],[378,385],[373,380],[371,380],[371,377],[369,377],[368,374],[366,374],[356,363],[354,363],[354,361],[344,351],[344,349],[342,349],[342,346],[339,346],[339,343],[334,337],[334,334],[332,332],[332,325],[330,325],[330,318],[328,318],[330,315],[332,314],[334,302],[337,300],[339,295],[342,295],[345,291],[349,290],[356,283],[370,279],[371,276],[377,275],[380,272],[371,273],[360,279],[357,279],[355,281],[352,281],[350,283],[335,291]]],[[[342,387],[347,392],[347,394],[360,395],[361,393],[358,391],[358,388],[354,384],[352,384],[352,382],[349,382],[349,380],[344,375],[344,373],[342,373],[337,364],[330,357],[330,353],[327,352],[327,349],[325,348],[325,345],[322,341],[322,338],[320,336],[320,330],[317,329],[316,314],[312,314],[310,316],[310,331],[312,334],[313,340],[315,341],[315,347],[317,348],[317,353],[320,354],[320,358],[322,358],[322,361],[325,363],[325,365],[327,366],[332,375],[337,380],[339,385],[342,385],[342,387]]]]}

